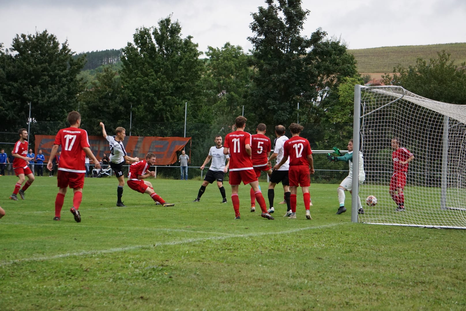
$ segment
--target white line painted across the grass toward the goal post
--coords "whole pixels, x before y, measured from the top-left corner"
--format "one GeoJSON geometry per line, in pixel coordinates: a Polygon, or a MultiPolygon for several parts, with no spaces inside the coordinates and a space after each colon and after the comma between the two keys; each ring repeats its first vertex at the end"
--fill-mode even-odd
{"type": "MultiPolygon", "coordinates": [[[[163,245],[178,245],[178,244],[196,243],[200,241],[209,241],[209,240],[225,240],[227,238],[238,238],[238,237],[240,238],[259,237],[259,236],[265,236],[265,235],[270,236],[272,234],[283,235],[283,234],[290,234],[290,233],[295,233],[295,232],[299,232],[303,230],[329,228],[329,227],[334,227],[334,226],[341,225],[341,224],[346,224],[346,223],[332,223],[332,224],[326,224],[322,226],[296,228],[296,229],[280,231],[280,232],[252,232],[248,234],[231,234],[231,235],[227,235],[224,237],[199,237],[199,238],[191,238],[191,239],[184,239],[184,240],[179,240],[179,241],[162,242],[162,243],[147,244],[147,245],[131,245],[131,246],[126,246],[126,247],[111,248],[107,250],[86,250],[86,251],[81,251],[81,252],[76,252],[76,253],[57,254],[53,256],[22,258],[22,259],[15,259],[11,261],[0,262],[0,267],[7,266],[10,264],[29,262],[29,261],[43,261],[43,260],[52,260],[52,259],[57,259],[57,258],[66,258],[66,257],[71,257],[71,256],[85,256],[85,255],[93,255],[93,254],[109,254],[109,253],[115,253],[115,252],[121,252],[121,251],[127,251],[127,250],[137,250],[137,249],[142,249],[142,248],[156,248],[158,246],[163,246],[163,245]]],[[[193,231],[193,232],[196,232],[196,231],[193,231]]]]}

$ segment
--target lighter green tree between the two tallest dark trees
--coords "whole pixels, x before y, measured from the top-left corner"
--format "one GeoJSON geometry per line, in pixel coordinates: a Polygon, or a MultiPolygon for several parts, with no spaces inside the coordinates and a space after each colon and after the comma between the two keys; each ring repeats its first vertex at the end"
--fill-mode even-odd
{"type": "Polygon", "coordinates": [[[208,47],[204,85],[209,95],[215,124],[230,124],[232,115],[241,114],[244,95],[250,83],[251,68],[242,47],[230,42],[219,49],[208,47]]]}

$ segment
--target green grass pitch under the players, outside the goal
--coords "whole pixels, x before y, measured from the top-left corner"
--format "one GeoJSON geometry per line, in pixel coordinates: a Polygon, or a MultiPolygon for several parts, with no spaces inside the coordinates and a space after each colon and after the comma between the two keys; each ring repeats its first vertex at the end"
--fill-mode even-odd
{"type": "Polygon", "coordinates": [[[298,219],[282,217],[279,185],[270,221],[240,186],[233,220],[216,185],[192,202],[200,180],[151,179],[170,208],[125,186],[119,208],[116,178],[87,178],[75,223],[71,190],[52,220],[55,177],[14,202],[16,180],[0,177],[2,311],[466,308],[464,230],[351,223],[350,209],[335,215],[337,185],[311,184],[309,221],[301,195],[298,219]]]}

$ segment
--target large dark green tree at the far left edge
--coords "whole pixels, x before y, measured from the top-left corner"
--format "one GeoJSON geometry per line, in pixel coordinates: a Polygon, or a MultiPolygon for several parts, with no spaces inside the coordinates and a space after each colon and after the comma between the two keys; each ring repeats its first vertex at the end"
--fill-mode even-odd
{"type": "Polygon", "coordinates": [[[0,59],[4,82],[0,98],[8,110],[2,129],[24,127],[30,102],[31,132],[55,132],[50,122],[66,120],[68,112],[77,108],[76,95],[81,90],[77,74],[84,58],[73,59],[68,41],[60,45],[45,30],[16,35],[11,48],[1,49],[0,59]]]}

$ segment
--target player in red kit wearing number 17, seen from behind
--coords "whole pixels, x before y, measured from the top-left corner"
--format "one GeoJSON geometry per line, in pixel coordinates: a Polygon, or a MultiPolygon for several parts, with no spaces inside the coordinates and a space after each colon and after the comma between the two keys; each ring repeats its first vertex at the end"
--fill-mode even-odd
{"type": "Polygon", "coordinates": [[[100,164],[96,157],[89,149],[89,139],[87,132],[81,128],[81,115],[77,111],[71,111],[68,114],[68,128],[62,128],[55,136],[54,146],[50,152],[50,158],[47,162],[47,169],[51,170],[58,148],[62,146],[62,155],[57,170],[58,193],[55,197],[55,217],[54,220],[60,220],[63,202],[65,200],[66,190],[73,189],[73,207],[69,210],[75,216],[76,223],[81,222],[81,214],[78,209],[82,201],[82,188],[84,187],[84,175],[86,168],[84,158],[87,155],[94,161],[96,169],[100,164]]]}

